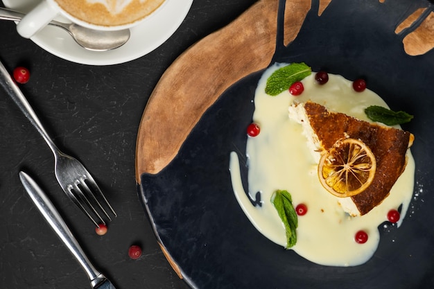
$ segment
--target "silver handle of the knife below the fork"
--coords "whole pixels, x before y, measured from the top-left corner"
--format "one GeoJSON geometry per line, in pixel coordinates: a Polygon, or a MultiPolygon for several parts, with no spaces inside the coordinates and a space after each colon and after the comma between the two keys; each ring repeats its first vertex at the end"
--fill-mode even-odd
{"type": "Polygon", "coordinates": [[[30,195],[33,202],[36,204],[37,209],[42,213],[42,216],[51,225],[54,231],[58,234],[59,238],[67,245],[69,251],[76,257],[78,262],[83,266],[86,273],[89,275],[89,279],[94,283],[99,283],[99,279],[105,279],[103,274],[98,272],[94,268],[94,265],[90,263],[89,259],[83,252],[83,249],[78,244],[76,238],[65,224],[64,220],[60,216],[60,213],[55,209],[53,203],[45,195],[44,191],[36,184],[36,182],[26,173],[19,172],[19,178],[21,183],[26,189],[28,195],[30,195]]]}

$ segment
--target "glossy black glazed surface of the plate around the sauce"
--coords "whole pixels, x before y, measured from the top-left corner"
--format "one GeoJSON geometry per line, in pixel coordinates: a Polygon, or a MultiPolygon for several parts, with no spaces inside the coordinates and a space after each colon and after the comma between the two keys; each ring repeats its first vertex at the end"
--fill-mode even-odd
{"type": "Polygon", "coordinates": [[[203,289],[433,288],[434,54],[407,55],[405,35],[394,33],[410,12],[426,6],[417,0],[333,0],[319,17],[313,1],[297,38],[284,47],[277,37],[273,59],[306,62],[350,80],[363,76],[392,109],[415,115],[403,125],[415,134],[416,162],[415,198],[403,225],[381,231],[372,259],[349,268],[306,261],[254,229],[234,197],[228,167],[231,151],[245,152],[259,71],[220,96],[171,164],[157,175],[141,175],[141,198],[157,238],[187,283],[203,289]]]}

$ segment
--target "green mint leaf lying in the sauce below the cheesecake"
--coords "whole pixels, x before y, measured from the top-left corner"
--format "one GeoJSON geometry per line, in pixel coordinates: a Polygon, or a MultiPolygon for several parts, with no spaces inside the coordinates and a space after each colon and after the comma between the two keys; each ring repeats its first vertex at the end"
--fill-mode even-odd
{"type": "Polygon", "coordinates": [[[286,231],[286,249],[297,243],[297,213],[293,207],[293,200],[288,191],[277,190],[272,193],[271,202],[275,206],[286,231]]]}

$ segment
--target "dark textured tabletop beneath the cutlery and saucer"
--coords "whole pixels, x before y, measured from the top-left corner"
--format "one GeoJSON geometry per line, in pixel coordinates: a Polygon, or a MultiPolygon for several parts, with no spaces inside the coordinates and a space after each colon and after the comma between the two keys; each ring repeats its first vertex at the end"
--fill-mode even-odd
{"type": "MultiPolygon", "coordinates": [[[[241,15],[254,0],[195,0],[180,28],[155,51],[109,66],[77,64],[19,37],[0,21],[0,60],[31,70],[21,90],[55,143],[91,171],[118,217],[105,236],[69,201],[55,179],[51,150],[0,91],[0,288],[89,288],[85,271],[40,215],[19,182],[25,170],[62,213],[94,265],[116,288],[188,288],[164,258],[137,194],[137,130],[162,73],[185,49],[241,15]],[[138,260],[128,247],[141,245],[138,260]]],[[[2,4],[1,4],[2,5],[2,4]]]]}

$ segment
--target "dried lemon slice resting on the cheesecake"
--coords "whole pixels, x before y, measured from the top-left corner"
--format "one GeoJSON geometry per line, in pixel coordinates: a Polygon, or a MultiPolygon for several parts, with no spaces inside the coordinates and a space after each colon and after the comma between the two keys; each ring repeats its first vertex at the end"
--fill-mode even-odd
{"type": "Polygon", "coordinates": [[[318,164],[322,186],[337,197],[351,197],[365,191],[374,179],[374,154],[363,141],[340,139],[325,152],[318,164]]]}

